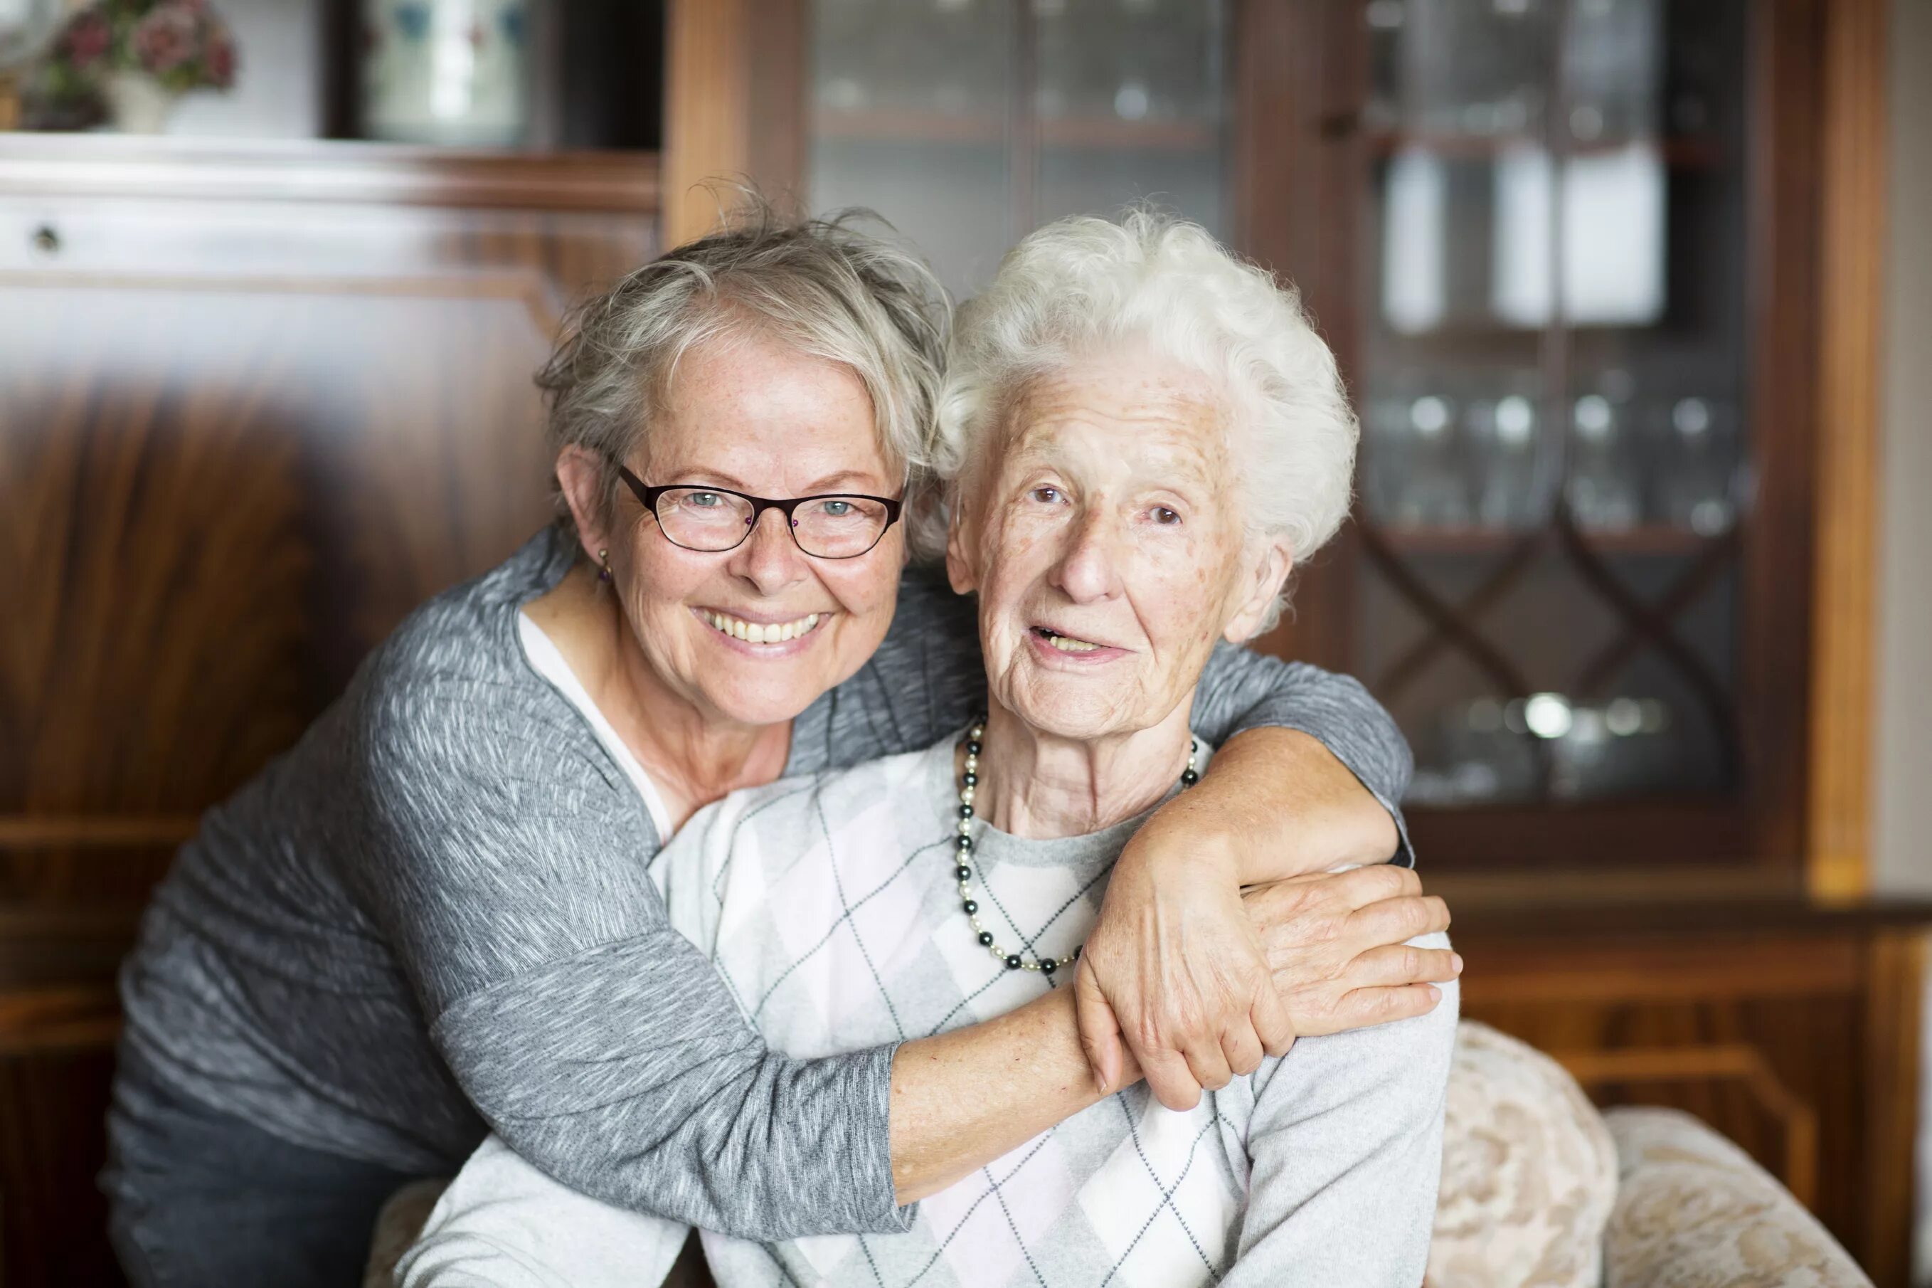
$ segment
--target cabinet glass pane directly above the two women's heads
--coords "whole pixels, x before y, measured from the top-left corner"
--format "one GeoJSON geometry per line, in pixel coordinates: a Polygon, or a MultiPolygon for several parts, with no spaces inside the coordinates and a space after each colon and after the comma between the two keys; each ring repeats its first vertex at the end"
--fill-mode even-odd
{"type": "Polygon", "coordinates": [[[811,0],[804,186],[949,290],[1041,222],[1151,199],[1225,230],[1231,0],[811,0]]]}

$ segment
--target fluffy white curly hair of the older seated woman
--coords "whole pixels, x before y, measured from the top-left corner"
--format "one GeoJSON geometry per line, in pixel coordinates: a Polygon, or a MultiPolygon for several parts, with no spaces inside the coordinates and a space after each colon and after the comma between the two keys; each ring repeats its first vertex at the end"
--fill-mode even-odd
{"type": "MultiPolygon", "coordinates": [[[[1121,344],[1151,344],[1225,391],[1244,435],[1250,530],[1285,536],[1296,563],[1335,536],[1358,437],[1335,354],[1293,286],[1200,224],[1144,207],[1119,222],[1074,217],[1032,232],[960,307],[929,453],[935,476],[951,491],[1028,381],[1121,344]]],[[[943,534],[927,522],[920,543],[929,553],[935,542],[943,534]]]]}

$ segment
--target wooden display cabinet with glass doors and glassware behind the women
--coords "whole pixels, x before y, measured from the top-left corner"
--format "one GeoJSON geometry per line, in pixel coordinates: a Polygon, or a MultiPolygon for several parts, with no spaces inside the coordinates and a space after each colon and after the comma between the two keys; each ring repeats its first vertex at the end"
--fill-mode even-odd
{"type": "Polygon", "coordinates": [[[1828,267],[1882,209],[1878,12],[672,6],[667,172],[873,205],[966,294],[1065,213],[1206,224],[1298,284],[1356,395],[1354,522],[1264,646],[1397,716],[1432,870],[1845,892],[1816,837],[1862,783],[1814,748],[1864,700],[1814,704],[1845,673],[1814,659],[1862,665],[1868,507],[1820,480],[1870,437],[1870,352],[1824,381],[1876,278],[1828,267]]]}

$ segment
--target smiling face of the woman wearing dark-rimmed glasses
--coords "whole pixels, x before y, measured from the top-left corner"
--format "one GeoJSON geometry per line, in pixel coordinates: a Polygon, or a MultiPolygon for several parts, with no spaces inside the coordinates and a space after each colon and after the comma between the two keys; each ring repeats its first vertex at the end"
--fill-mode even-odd
{"type": "MultiPolygon", "coordinates": [[[[871,398],[848,367],[759,335],[684,356],[665,414],[630,468],[647,485],[713,483],[753,497],[850,491],[896,497],[871,398]]],[[[670,543],[618,489],[612,572],[657,675],[701,714],[750,725],[792,719],[871,658],[893,621],[904,526],[856,559],[813,559],[765,511],[742,545],[670,543]]]]}

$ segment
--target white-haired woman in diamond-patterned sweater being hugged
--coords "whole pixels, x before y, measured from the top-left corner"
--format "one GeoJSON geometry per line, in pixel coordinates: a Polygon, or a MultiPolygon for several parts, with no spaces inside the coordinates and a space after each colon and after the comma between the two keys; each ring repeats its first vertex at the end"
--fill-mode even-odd
{"type": "MultiPolygon", "coordinates": [[[[923,750],[734,793],[651,864],[765,1040],[825,1056],[1061,986],[1121,847],[1208,766],[1190,712],[1209,654],[1265,629],[1341,524],[1354,439],[1294,296],[1198,226],[1070,219],[1007,257],[960,317],[929,526],[952,588],[978,596],[985,714],[923,750]]],[[[1372,953],[1364,979],[1418,961],[1459,969],[1430,934],[1372,953]]],[[[1443,994],[1378,1027],[1304,1021],[1285,1058],[1190,1110],[1119,1091],[933,1193],[904,1234],[707,1232],[707,1257],[723,1288],[1416,1284],[1443,994]]],[[[651,1284],[682,1234],[489,1143],[400,1282],[651,1284]]]]}

